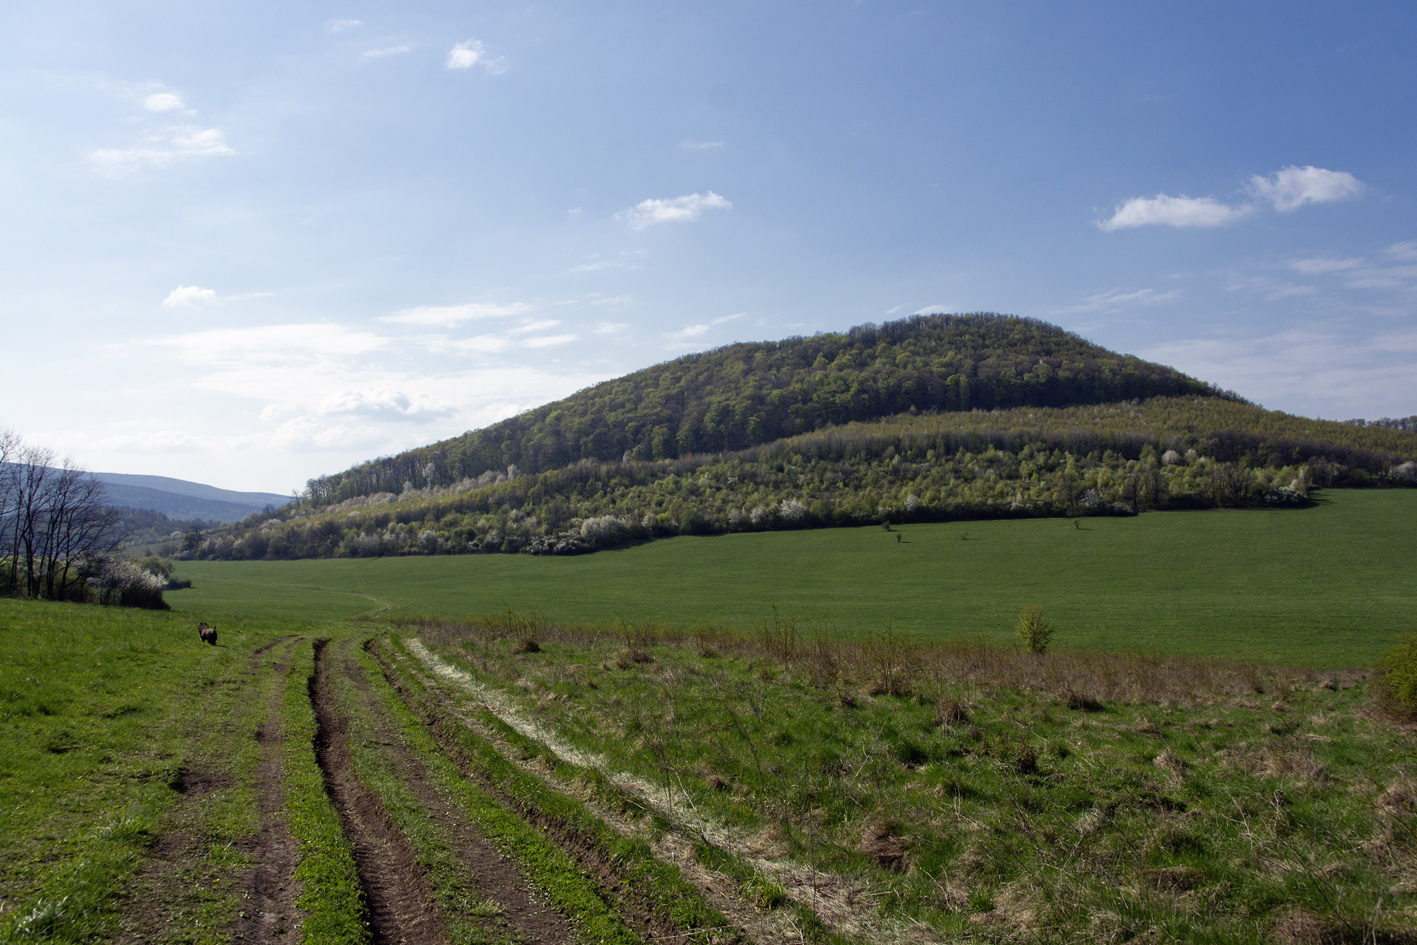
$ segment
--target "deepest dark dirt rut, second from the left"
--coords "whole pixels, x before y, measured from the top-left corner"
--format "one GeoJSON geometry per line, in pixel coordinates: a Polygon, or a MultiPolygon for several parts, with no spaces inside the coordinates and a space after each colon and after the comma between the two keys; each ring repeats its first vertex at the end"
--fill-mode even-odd
{"type": "Polygon", "coordinates": [[[408,837],[354,771],[349,720],[339,708],[330,677],[329,639],[322,638],[315,640],[315,676],[310,679],[315,755],[324,774],[324,789],[354,847],[373,942],[439,945],[446,935],[428,881],[408,837]]]}

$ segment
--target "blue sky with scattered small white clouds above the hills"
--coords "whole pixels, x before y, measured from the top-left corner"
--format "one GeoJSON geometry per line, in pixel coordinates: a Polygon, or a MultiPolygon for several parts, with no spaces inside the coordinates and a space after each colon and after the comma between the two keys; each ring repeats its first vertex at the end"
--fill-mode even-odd
{"type": "Polygon", "coordinates": [[[286,493],[733,341],[1005,312],[1417,412],[1403,3],[0,9],[0,426],[286,493]]]}

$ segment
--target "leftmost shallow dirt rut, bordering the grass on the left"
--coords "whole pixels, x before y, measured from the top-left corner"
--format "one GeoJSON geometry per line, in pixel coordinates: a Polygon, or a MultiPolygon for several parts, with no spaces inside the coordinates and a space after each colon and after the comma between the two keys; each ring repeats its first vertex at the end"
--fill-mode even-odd
{"type": "Polygon", "coordinates": [[[261,659],[276,646],[285,643],[285,652],[271,663],[272,672],[281,677],[266,703],[266,717],[256,730],[261,742],[261,764],[256,766],[259,786],[258,809],[261,827],[247,851],[255,861],[255,868],[244,883],[248,905],[231,928],[232,942],[269,942],[272,945],[295,945],[300,939],[303,912],[296,905],[295,884],[295,837],[283,816],[285,812],[285,727],[281,721],[281,707],[285,701],[285,687],[289,684],[290,662],[299,638],[286,636],[272,640],[254,653],[261,659]]]}

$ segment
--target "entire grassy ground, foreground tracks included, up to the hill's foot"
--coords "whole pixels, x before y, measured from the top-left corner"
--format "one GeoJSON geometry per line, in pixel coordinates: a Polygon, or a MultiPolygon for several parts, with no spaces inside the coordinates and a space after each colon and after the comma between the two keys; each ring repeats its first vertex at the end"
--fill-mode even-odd
{"type": "Polygon", "coordinates": [[[1366,672],[1413,534],[1323,492],[0,599],[0,944],[1417,944],[1366,672]]]}

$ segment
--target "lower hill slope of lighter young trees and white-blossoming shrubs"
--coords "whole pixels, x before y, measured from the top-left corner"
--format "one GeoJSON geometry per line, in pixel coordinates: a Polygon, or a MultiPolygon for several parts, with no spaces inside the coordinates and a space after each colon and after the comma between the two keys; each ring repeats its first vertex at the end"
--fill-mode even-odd
{"type": "Polygon", "coordinates": [[[1216,397],[901,414],[750,449],[581,460],[286,506],[190,533],[197,558],[578,554],[674,534],[1297,506],[1312,487],[1417,486],[1417,435],[1216,397]]]}

